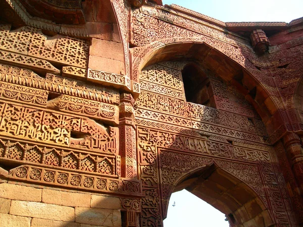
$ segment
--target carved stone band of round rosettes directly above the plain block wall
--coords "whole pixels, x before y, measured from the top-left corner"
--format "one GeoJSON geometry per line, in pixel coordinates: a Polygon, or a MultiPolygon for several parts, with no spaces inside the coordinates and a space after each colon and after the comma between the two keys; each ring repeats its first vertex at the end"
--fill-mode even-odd
{"type": "Polygon", "coordinates": [[[11,169],[9,179],[85,191],[136,196],[141,196],[142,194],[141,181],[138,180],[110,179],[30,165],[21,165],[11,169]]]}

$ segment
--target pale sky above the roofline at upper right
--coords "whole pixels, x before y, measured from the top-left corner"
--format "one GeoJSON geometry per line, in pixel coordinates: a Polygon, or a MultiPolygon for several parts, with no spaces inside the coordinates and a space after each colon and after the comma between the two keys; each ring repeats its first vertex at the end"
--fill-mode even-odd
{"type": "Polygon", "coordinates": [[[223,22],[286,22],[303,17],[302,0],[162,0],[223,22]]]}

